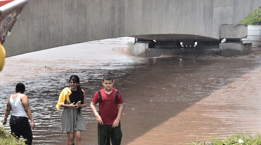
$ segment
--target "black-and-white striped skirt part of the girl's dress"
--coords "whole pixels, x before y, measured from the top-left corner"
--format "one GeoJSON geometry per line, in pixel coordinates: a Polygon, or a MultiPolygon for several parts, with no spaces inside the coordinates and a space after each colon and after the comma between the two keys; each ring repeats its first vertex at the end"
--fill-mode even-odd
{"type": "MultiPolygon", "coordinates": [[[[70,105],[70,102],[65,100],[64,104],[70,105]]],[[[86,131],[81,111],[77,108],[63,108],[61,114],[61,131],[74,132],[76,130],[86,131]]]]}

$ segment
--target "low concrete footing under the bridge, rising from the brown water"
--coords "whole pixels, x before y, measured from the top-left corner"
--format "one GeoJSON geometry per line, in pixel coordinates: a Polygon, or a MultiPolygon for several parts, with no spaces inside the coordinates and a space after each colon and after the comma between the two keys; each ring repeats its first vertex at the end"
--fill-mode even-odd
{"type": "Polygon", "coordinates": [[[252,43],[220,43],[214,49],[155,49],[149,48],[150,42],[128,42],[128,51],[137,57],[158,57],[162,54],[175,55],[219,55],[224,57],[249,55],[252,53],[252,43]]]}

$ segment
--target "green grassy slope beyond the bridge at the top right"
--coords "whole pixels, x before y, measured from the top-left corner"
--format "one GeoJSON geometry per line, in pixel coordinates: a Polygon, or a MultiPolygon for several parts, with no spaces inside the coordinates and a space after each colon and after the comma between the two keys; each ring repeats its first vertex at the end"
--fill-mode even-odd
{"type": "Polygon", "coordinates": [[[261,8],[255,9],[246,16],[239,24],[242,25],[260,25],[261,24],[261,8]]]}

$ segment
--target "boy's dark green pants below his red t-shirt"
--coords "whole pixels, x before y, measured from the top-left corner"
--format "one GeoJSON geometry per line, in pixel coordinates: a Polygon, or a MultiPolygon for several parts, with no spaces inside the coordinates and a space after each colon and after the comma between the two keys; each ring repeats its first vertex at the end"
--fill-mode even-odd
{"type": "Polygon", "coordinates": [[[98,145],[120,145],[122,132],[120,123],[118,127],[113,128],[112,125],[98,124],[98,145]]]}

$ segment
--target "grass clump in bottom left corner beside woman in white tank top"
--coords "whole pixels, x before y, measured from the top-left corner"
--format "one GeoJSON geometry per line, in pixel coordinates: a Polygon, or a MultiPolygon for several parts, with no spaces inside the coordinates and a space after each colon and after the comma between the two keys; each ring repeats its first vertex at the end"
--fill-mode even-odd
{"type": "Polygon", "coordinates": [[[17,140],[5,129],[5,126],[0,127],[0,144],[5,145],[25,145],[25,140],[19,139],[17,140]]]}

